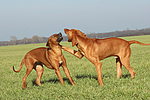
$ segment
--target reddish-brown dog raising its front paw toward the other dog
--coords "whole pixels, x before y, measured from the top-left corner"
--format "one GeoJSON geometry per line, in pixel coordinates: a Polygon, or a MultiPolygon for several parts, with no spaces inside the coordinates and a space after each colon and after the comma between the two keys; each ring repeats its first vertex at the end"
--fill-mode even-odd
{"type": "Polygon", "coordinates": [[[98,82],[100,86],[103,85],[100,60],[103,60],[110,56],[116,57],[117,66],[117,77],[120,78],[122,65],[130,72],[131,77],[135,77],[135,71],[130,66],[130,55],[131,49],[130,45],[137,43],[140,45],[150,45],[144,44],[138,41],[126,41],[120,38],[106,38],[106,39],[96,39],[88,38],[84,33],[76,29],[64,29],[68,36],[68,42],[72,42],[72,47],[76,45],[78,51],[64,47],[65,51],[82,58],[83,55],[92,62],[97,70],[98,82]]]}

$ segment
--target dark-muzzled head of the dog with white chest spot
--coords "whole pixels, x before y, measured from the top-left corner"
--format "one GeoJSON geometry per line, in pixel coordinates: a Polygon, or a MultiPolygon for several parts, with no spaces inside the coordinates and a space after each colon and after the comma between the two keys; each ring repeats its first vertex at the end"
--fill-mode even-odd
{"type": "Polygon", "coordinates": [[[50,47],[51,44],[58,45],[62,41],[63,37],[61,33],[54,34],[48,38],[46,46],[50,47]]]}

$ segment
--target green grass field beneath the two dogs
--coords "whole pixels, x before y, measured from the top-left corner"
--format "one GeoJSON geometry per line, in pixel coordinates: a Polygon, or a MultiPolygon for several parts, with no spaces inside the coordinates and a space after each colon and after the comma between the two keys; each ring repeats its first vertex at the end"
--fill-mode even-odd
{"type": "MultiPolygon", "coordinates": [[[[126,40],[138,40],[150,43],[150,35],[121,37],[126,40]]],[[[70,74],[76,84],[72,86],[60,67],[64,85],[59,82],[54,70],[44,66],[41,79],[42,86],[35,84],[36,71],[33,70],[27,78],[27,89],[22,90],[22,78],[26,67],[19,73],[13,72],[12,67],[19,69],[24,55],[31,49],[45,47],[46,43],[27,44],[0,47],[0,99],[114,99],[134,100],[150,99],[150,46],[132,44],[130,63],[136,72],[135,79],[131,79],[129,72],[123,67],[122,77],[117,79],[114,57],[102,61],[104,86],[100,87],[97,81],[95,66],[85,57],[81,60],[63,51],[70,74]]],[[[71,47],[71,43],[61,42],[71,47]]],[[[73,47],[73,49],[76,49],[73,47]]]]}

